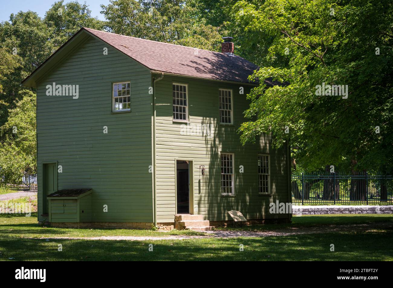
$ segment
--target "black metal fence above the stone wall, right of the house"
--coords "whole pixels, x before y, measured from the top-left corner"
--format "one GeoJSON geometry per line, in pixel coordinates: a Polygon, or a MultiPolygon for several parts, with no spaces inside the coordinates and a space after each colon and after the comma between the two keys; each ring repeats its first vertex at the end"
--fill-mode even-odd
{"type": "Polygon", "coordinates": [[[291,190],[295,205],[393,205],[393,176],[292,174],[291,190]]]}

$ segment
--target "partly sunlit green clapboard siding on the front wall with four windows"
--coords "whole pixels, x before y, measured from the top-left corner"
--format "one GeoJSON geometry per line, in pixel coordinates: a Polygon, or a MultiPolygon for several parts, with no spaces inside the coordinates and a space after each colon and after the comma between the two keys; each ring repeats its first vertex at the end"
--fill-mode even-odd
{"type": "Polygon", "coordinates": [[[193,160],[195,214],[206,220],[228,220],[226,211],[240,210],[248,219],[288,218],[288,215],[268,213],[270,202],[288,202],[288,165],[286,148],[270,149],[270,136],[258,144],[240,144],[237,129],[245,121],[243,112],[249,107],[246,85],[202,81],[191,78],[164,76],[156,83],[156,193],[157,222],[173,222],[175,214],[175,158],[193,160]],[[172,83],[188,85],[189,119],[193,124],[209,124],[214,137],[182,135],[184,123],[172,119],[172,83]],[[244,87],[244,95],[239,87],[244,87]],[[233,90],[234,125],[219,124],[219,88],[233,90]],[[234,153],[235,196],[222,196],[220,191],[220,153],[234,153]],[[258,153],[269,154],[271,171],[270,196],[258,191],[258,153]],[[198,169],[206,168],[202,176],[198,169]],[[244,172],[239,172],[243,165],[244,172]]]}

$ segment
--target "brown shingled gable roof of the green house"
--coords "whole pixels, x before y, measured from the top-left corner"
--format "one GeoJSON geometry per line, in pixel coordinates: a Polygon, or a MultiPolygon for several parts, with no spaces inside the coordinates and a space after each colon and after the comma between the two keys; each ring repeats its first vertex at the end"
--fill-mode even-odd
{"type": "MultiPolygon", "coordinates": [[[[258,66],[242,57],[119,35],[90,28],[81,28],[61,48],[31,73],[29,77],[24,79],[22,84],[34,86],[35,78],[38,79],[41,72],[37,73],[37,75],[35,75],[35,73],[39,71],[46,62],[57,57],[57,53],[67,44],[77,42],[73,41],[74,38],[77,38],[83,32],[87,32],[97,37],[119,50],[121,53],[149,68],[152,72],[258,84],[258,82],[248,80],[248,76],[251,75],[254,70],[258,69],[258,66]],[[33,77],[33,75],[35,75],[35,77],[33,77]]],[[[51,62],[55,63],[55,61],[51,62]]],[[[264,82],[268,86],[280,84],[279,82],[271,81],[271,79],[266,79],[264,82]]]]}

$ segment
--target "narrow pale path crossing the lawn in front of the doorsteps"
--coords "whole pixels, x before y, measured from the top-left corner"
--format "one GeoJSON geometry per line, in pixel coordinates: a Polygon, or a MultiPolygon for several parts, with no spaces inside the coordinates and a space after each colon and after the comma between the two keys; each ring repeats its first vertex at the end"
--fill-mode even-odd
{"type": "MultiPolygon", "coordinates": [[[[129,241],[145,241],[145,240],[183,240],[195,238],[234,238],[234,237],[269,237],[269,236],[289,236],[289,235],[303,235],[313,233],[329,233],[329,232],[365,232],[372,229],[393,229],[391,222],[376,222],[361,225],[325,225],[319,227],[297,227],[277,229],[270,231],[231,231],[231,230],[215,230],[208,231],[206,236],[187,236],[187,235],[173,235],[173,236],[102,236],[102,237],[48,237],[41,239],[83,239],[83,240],[129,240],[129,241]]],[[[162,232],[165,233],[165,232],[162,232]]],[[[37,238],[35,238],[37,239],[37,238]]]]}

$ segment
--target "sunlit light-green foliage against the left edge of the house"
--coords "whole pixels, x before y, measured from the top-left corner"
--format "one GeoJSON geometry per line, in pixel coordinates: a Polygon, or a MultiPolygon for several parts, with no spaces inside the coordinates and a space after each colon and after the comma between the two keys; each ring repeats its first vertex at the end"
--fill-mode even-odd
{"type": "Polygon", "coordinates": [[[22,90],[22,100],[9,111],[7,122],[0,127],[3,142],[0,143],[0,167],[9,180],[19,179],[24,171],[35,173],[36,149],[36,95],[22,90]]]}

